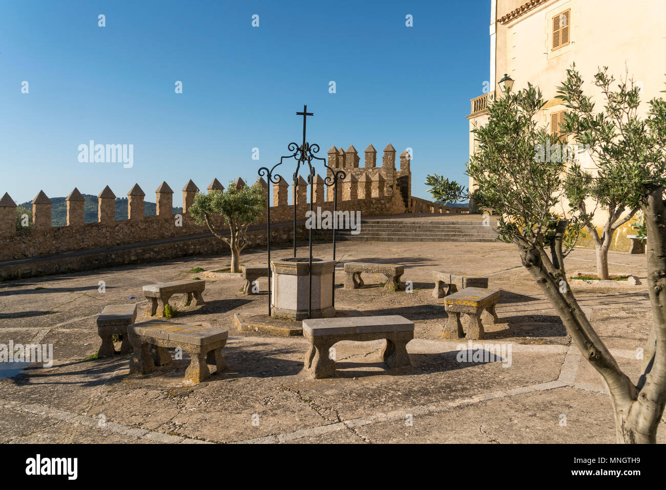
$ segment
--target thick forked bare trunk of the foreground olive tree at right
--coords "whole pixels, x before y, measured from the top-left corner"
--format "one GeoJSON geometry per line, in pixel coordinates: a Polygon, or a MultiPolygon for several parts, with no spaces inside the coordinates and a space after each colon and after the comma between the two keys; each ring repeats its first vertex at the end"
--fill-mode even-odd
{"type": "MultiPolygon", "coordinates": [[[[646,194],[649,195],[643,205],[643,213],[648,236],[647,282],[653,321],[641,365],[643,374],[636,386],[619,369],[591,328],[571,290],[568,286],[563,287],[561,271],[553,268],[543,250],[516,242],[523,266],[551,300],[583,357],[603,377],[611,395],[618,443],[656,443],[657,429],[666,406],[666,208],[662,200],[663,188],[646,194]]],[[[595,247],[597,274],[602,279],[608,274],[610,242],[611,234],[607,230],[601,243],[595,247]]]]}

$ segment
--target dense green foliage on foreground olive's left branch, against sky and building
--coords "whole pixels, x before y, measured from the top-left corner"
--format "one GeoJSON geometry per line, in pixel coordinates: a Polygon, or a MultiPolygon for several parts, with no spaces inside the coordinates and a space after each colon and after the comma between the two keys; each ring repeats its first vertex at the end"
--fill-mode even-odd
{"type": "Polygon", "coordinates": [[[537,148],[557,144],[536,123],[544,104],[541,91],[531,84],[505,92],[489,105],[488,124],[474,129],[478,150],[468,162],[468,174],[484,204],[502,216],[499,230],[507,241],[543,244],[559,220],[551,209],[563,192],[562,159],[537,156],[537,148]]]}

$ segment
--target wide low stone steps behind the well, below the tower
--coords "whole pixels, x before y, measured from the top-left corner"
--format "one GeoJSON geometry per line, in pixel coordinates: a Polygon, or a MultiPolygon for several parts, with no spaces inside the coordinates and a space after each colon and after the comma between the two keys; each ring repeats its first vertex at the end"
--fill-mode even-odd
{"type": "MultiPolygon", "coordinates": [[[[498,237],[497,220],[490,226],[480,220],[361,220],[360,233],[339,229],[336,240],[366,240],[378,242],[494,242],[498,237]]],[[[312,230],[316,240],[332,240],[332,230],[312,230]]]]}

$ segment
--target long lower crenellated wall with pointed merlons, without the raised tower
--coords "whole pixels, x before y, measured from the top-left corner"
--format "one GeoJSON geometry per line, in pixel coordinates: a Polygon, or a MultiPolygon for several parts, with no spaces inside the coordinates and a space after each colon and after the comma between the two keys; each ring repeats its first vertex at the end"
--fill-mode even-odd
{"type": "MultiPolygon", "coordinates": [[[[333,202],[325,200],[324,179],[316,175],[314,182],[315,206],[320,206],[322,210],[333,210],[333,202]]],[[[264,195],[268,196],[266,181],[259,178],[255,183],[260,184],[264,188],[264,195]]],[[[244,186],[245,182],[238,179],[234,185],[244,186]]],[[[290,184],[284,181],[273,185],[274,206],[270,208],[272,223],[290,222],[293,219],[294,194],[298,206],[296,210],[298,219],[304,219],[306,210],[310,208],[306,200],[309,194],[306,195],[305,180],[299,178],[295,192],[293,188],[289,192],[290,187],[290,184]],[[291,197],[290,202],[288,202],[289,197],[291,197]]],[[[338,195],[340,210],[359,210],[362,216],[400,214],[405,210],[401,200],[389,192],[390,186],[377,187],[373,190],[372,196],[364,194],[362,198],[358,198],[356,190],[352,194],[347,192],[344,195],[344,187],[344,182],[340,182],[338,195]]],[[[224,186],[214,179],[208,186],[208,190],[212,189],[224,190],[224,186]]],[[[196,192],[198,187],[192,180],[188,180],[182,188],[183,212],[174,215],[171,208],[173,191],[166,182],[162,182],[155,190],[157,216],[145,216],[145,192],[137,183],[127,192],[129,219],[115,220],[116,196],[109,186],[105,186],[98,196],[98,222],[85,223],[83,196],[75,188],[67,197],[67,226],[51,226],[51,200],[40,190],[33,200],[34,228],[25,231],[16,230],[16,204],[9,194],[5,193],[0,199],[0,261],[205,234],[208,229],[195,224],[188,212],[196,192]]],[[[265,223],[266,213],[255,224],[265,223]]],[[[221,223],[219,225],[224,229],[221,223]]]]}

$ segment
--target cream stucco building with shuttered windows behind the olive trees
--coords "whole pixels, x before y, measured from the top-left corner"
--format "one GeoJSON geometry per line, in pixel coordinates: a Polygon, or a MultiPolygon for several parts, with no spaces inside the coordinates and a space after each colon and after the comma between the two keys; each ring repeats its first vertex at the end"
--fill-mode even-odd
{"type": "MultiPolygon", "coordinates": [[[[488,102],[500,95],[498,81],[505,73],[513,79],[514,91],[528,81],[539,86],[547,100],[540,115],[544,125],[554,124],[565,110],[555,99],[556,87],[573,62],[599,109],[603,96],[590,83],[597,67],[607,66],[616,79],[628,70],[642,87],[645,113],[647,101],[665,96],[660,94],[666,89],[665,26],[665,0],[491,0],[490,91],[471,101],[470,155],[471,130],[488,121],[488,102]]],[[[602,219],[598,216],[597,223],[602,219]]],[[[618,230],[614,248],[628,247],[624,228],[618,230]]]]}

